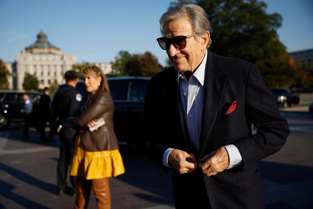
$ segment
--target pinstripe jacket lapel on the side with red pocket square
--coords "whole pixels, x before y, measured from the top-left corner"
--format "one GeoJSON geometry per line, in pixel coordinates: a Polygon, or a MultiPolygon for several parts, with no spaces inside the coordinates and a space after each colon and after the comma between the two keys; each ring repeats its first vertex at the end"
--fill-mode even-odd
{"type": "Polygon", "coordinates": [[[224,74],[213,53],[207,51],[208,58],[204,76],[204,95],[203,95],[203,111],[202,126],[200,134],[200,157],[205,153],[205,147],[209,141],[209,135],[212,130],[215,118],[218,113],[220,102],[223,96],[227,74],[224,74]]]}

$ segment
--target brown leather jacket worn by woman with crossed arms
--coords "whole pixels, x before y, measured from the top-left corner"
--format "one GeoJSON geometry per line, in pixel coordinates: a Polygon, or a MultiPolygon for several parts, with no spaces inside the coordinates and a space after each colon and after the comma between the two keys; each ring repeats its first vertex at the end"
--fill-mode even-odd
{"type": "Polygon", "coordinates": [[[118,141],[114,132],[113,113],[114,103],[110,94],[104,90],[95,95],[96,98],[87,104],[87,97],[81,101],[74,117],[66,119],[64,126],[79,129],[80,140],[87,151],[103,151],[118,149],[118,141]],[[103,118],[105,125],[97,131],[89,131],[87,123],[94,119],[103,118]]]}

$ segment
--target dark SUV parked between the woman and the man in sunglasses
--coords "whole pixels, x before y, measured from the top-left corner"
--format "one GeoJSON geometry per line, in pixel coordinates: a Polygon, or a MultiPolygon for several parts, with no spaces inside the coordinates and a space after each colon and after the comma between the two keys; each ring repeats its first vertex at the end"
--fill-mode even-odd
{"type": "MultiPolygon", "coordinates": [[[[139,122],[148,90],[148,77],[107,78],[114,100],[114,131],[120,144],[134,142],[136,125],[139,122]]],[[[80,81],[76,88],[85,94],[85,86],[80,81]]]]}

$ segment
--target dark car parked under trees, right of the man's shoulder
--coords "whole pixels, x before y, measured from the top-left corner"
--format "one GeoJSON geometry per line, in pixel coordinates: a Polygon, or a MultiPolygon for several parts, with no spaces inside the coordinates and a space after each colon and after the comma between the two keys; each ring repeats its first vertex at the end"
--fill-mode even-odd
{"type": "Polygon", "coordinates": [[[271,91],[276,98],[278,106],[292,107],[299,104],[300,95],[292,94],[289,88],[273,88],[271,91]]]}

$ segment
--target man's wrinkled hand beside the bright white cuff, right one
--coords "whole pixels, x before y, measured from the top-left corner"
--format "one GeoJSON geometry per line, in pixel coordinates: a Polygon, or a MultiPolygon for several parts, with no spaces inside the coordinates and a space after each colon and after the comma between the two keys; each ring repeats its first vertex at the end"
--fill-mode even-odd
{"type": "Polygon", "coordinates": [[[199,159],[199,167],[207,176],[222,172],[228,167],[229,157],[225,147],[219,147],[199,159]]]}

